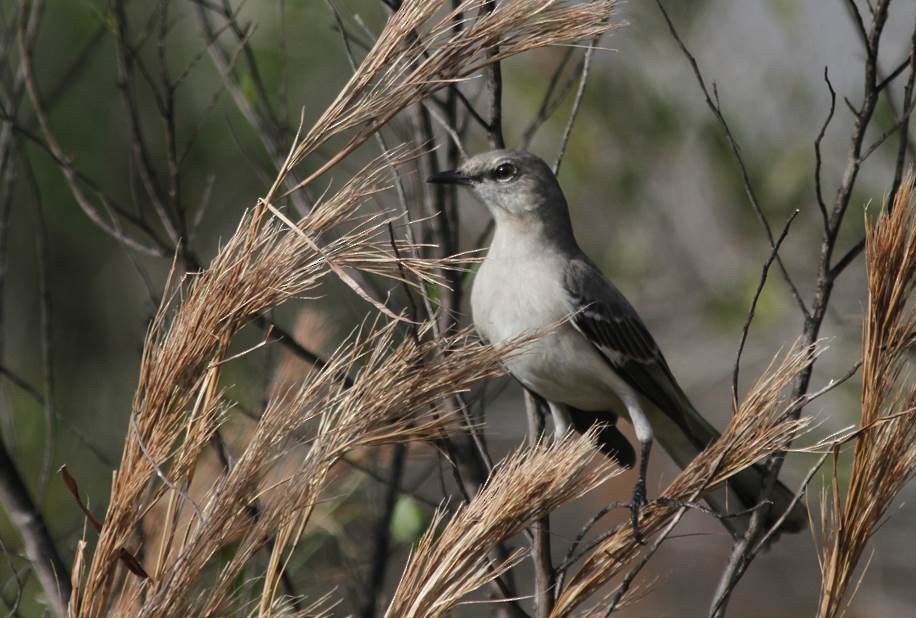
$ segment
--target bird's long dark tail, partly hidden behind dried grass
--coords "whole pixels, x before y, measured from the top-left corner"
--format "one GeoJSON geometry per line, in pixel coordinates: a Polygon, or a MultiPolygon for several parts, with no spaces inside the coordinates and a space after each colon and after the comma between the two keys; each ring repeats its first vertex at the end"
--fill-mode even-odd
{"type": "MultiPolygon", "coordinates": [[[[684,405],[680,406],[682,416],[678,419],[679,422],[675,422],[659,410],[653,410],[654,414],[650,419],[656,439],[681,468],[686,467],[706,445],[719,437],[719,432],[700,416],[686,398],[684,400],[684,405]]],[[[727,489],[713,490],[703,497],[718,513],[744,511],[757,504],[764,478],[764,468],[758,464],[731,477],[727,482],[727,489]]],[[[779,481],[776,482],[770,494],[773,504],[766,522],[768,528],[786,512],[793,496],[794,493],[788,487],[779,481]]],[[[722,519],[722,523],[734,536],[743,536],[750,523],[750,515],[725,518],[722,519]]],[[[792,507],[779,531],[800,532],[807,525],[808,510],[799,501],[792,507]]]]}

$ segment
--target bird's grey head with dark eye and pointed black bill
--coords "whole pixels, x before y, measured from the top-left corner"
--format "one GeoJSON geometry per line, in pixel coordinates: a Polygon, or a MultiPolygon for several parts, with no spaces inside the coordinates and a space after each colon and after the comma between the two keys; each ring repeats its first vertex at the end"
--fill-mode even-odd
{"type": "Polygon", "coordinates": [[[543,216],[566,210],[566,201],[550,167],[523,150],[491,150],[467,159],[458,168],[440,172],[427,182],[467,185],[499,221],[543,216]]]}

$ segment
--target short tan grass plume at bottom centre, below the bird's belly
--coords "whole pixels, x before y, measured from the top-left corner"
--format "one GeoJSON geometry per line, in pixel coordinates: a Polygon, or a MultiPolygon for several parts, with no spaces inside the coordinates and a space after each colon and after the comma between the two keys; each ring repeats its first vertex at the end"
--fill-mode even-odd
{"type": "Polygon", "coordinates": [[[487,484],[444,526],[440,511],[414,550],[385,616],[435,618],[518,563],[523,552],[490,565],[488,552],[550,513],[615,476],[595,436],[568,436],[524,448],[500,464],[487,484]]]}

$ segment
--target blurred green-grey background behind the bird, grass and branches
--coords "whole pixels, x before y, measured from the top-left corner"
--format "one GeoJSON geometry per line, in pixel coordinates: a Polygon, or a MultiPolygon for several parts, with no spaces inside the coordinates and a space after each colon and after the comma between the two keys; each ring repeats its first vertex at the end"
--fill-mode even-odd
{"type": "MultiPolygon", "coordinates": [[[[227,4],[238,11],[235,21],[247,28],[242,34],[248,43],[244,49],[238,33],[219,18],[218,9],[224,5],[217,0],[164,4],[51,0],[33,48],[34,77],[44,111],[86,193],[102,204],[103,220],[113,220],[106,211],[108,200],[127,212],[148,208],[144,172],[132,151],[134,127],[139,126],[152,156],[149,169],[160,179],[168,175],[170,149],[174,146],[177,152],[181,182],[175,189],[190,230],[185,247],[202,264],[209,261],[220,239],[231,233],[242,211],[266,192],[276,156],[285,154],[300,110],[306,125],[314,121],[350,74],[340,33],[325,3],[227,0],[227,4]],[[125,19],[119,16],[121,8],[113,8],[115,4],[123,7],[125,19]],[[164,17],[163,6],[167,6],[164,17]],[[201,11],[209,17],[202,19],[201,11]],[[159,36],[163,23],[164,39],[159,36]],[[116,33],[125,27],[133,48],[122,53],[116,33]],[[248,58],[229,71],[220,67],[210,53],[212,45],[208,49],[214,35],[232,63],[235,54],[250,51],[257,73],[248,58]],[[166,42],[164,47],[160,40],[166,42]],[[169,129],[159,107],[165,98],[158,81],[163,58],[177,82],[172,114],[177,145],[167,138],[169,129]],[[125,63],[136,63],[130,82],[124,80],[125,63]],[[224,80],[234,80],[233,86],[224,80]],[[130,84],[132,108],[124,103],[125,83],[130,84]],[[246,109],[272,118],[272,124],[257,126],[246,109]],[[100,198],[103,195],[105,199],[100,198]]],[[[697,0],[669,4],[671,17],[707,83],[716,86],[772,226],[781,229],[795,209],[800,211],[781,254],[808,302],[821,238],[813,144],[830,108],[825,67],[837,92],[835,117],[823,140],[828,200],[845,167],[852,130],[853,117],[843,100],[848,97],[858,104],[862,96],[865,54],[848,3],[697,0]]],[[[859,4],[867,12],[864,3],[859,4]]],[[[17,83],[18,6],[0,0],[0,28],[6,37],[0,53],[5,101],[17,83]]],[[[339,0],[335,6],[353,29],[359,58],[359,40],[381,27],[384,5],[378,0],[339,0]],[[367,32],[360,31],[363,26],[367,32]]],[[[722,128],[706,107],[691,67],[655,4],[631,0],[620,5],[618,17],[627,26],[606,37],[595,53],[560,181],[583,249],[640,311],[697,408],[722,427],[730,412],[731,371],[742,324],[769,243],[748,202],[722,128]]],[[[885,74],[906,59],[914,20],[916,5],[892,4],[879,63],[885,74]]],[[[566,54],[565,49],[549,49],[503,64],[503,122],[510,147],[523,142],[551,76],[566,54]]],[[[580,56],[581,50],[575,50],[560,84],[577,78],[580,56]]],[[[898,82],[881,98],[866,143],[896,122],[903,78],[898,82]]],[[[462,88],[482,107],[483,99],[475,98],[480,84],[472,80],[462,88]]],[[[530,149],[548,161],[556,155],[572,99],[567,97],[533,135],[530,149]]],[[[24,165],[16,165],[14,182],[4,182],[0,193],[0,431],[69,562],[83,535],[84,518],[54,471],[66,464],[90,508],[97,515],[104,513],[111,473],[127,430],[143,338],[165,285],[171,255],[138,254],[87,218],[61,166],[43,145],[47,140],[28,98],[15,109],[4,103],[3,119],[4,131],[15,124],[12,132],[22,145],[15,156],[25,157],[34,175],[23,172],[24,165]],[[53,420],[50,433],[48,418],[53,420]]],[[[385,136],[389,145],[411,139],[410,118],[397,119],[385,136]]],[[[465,146],[469,152],[485,149],[485,136],[472,128],[465,146]]],[[[884,199],[897,146],[896,137],[888,140],[863,167],[839,253],[861,238],[866,207],[876,208],[884,199]]],[[[442,161],[444,150],[435,155],[442,161]]],[[[376,153],[374,144],[367,145],[325,182],[339,186],[348,171],[376,153]]],[[[421,180],[421,170],[406,177],[411,203],[422,199],[421,180]]],[[[382,202],[386,200],[390,203],[382,206],[396,207],[393,194],[382,202]]],[[[461,195],[456,213],[457,248],[485,243],[485,209],[470,195],[461,195]]],[[[155,221],[150,225],[158,235],[167,236],[155,221]]],[[[469,285],[472,276],[462,283],[469,285]]],[[[399,292],[393,294],[397,300],[399,292]]],[[[822,329],[829,349],[818,361],[812,389],[842,376],[859,359],[864,298],[864,267],[859,258],[837,283],[822,329]]],[[[343,286],[329,283],[320,299],[286,306],[274,319],[295,332],[306,348],[327,353],[370,309],[343,286]]],[[[466,306],[458,308],[458,315],[461,324],[468,322],[466,306]]],[[[791,345],[801,328],[795,301],[774,269],[743,356],[742,388],[774,354],[791,345]]],[[[252,330],[239,347],[250,346],[261,336],[252,330]]],[[[270,346],[229,365],[225,380],[240,410],[250,411],[263,406],[278,382],[295,380],[301,371],[301,364],[288,353],[270,346]]],[[[811,444],[854,423],[859,387],[854,377],[812,404],[807,413],[817,416],[818,425],[801,443],[811,444]]],[[[517,385],[503,379],[470,394],[469,399],[478,409],[485,406],[494,458],[524,440],[526,424],[517,385]]],[[[244,412],[233,415],[227,429],[230,442],[233,432],[241,436],[236,439],[244,440],[245,424],[244,412]]],[[[660,449],[656,453],[650,467],[650,497],[676,472],[660,449]]],[[[341,613],[358,612],[363,606],[361,595],[368,577],[364,546],[384,499],[383,487],[365,470],[381,466],[389,457],[384,451],[368,453],[353,462],[354,467],[341,470],[342,480],[322,506],[307,539],[308,551],[290,570],[301,593],[314,596],[336,588],[346,599],[341,613]]],[[[810,455],[790,455],[784,480],[797,485],[812,462],[810,455]]],[[[839,462],[840,478],[844,462],[839,462]]],[[[423,532],[430,505],[442,499],[443,488],[450,493],[451,481],[442,480],[443,476],[447,475],[432,450],[410,449],[405,484],[416,495],[401,496],[394,508],[391,527],[396,543],[389,583],[396,581],[410,544],[423,532]]],[[[632,474],[618,477],[554,516],[555,562],[592,513],[608,501],[629,497],[632,482],[632,474]]],[[[815,519],[820,514],[821,484],[818,477],[808,494],[815,519]]],[[[902,616],[916,607],[912,586],[916,566],[910,559],[916,511],[907,500],[914,494],[912,488],[905,492],[900,508],[875,540],[850,616],[902,616]]],[[[595,533],[623,516],[612,514],[595,533]]],[[[92,536],[90,532],[90,542],[92,536]]],[[[21,602],[11,613],[41,615],[38,587],[21,557],[19,536],[2,509],[0,540],[4,548],[0,598],[8,608],[0,606],[0,613],[16,605],[16,590],[21,586],[21,602]]],[[[513,541],[524,543],[523,538],[513,541]]],[[[730,538],[717,522],[690,513],[644,572],[640,601],[619,615],[705,615],[730,548],[730,538]]],[[[784,538],[753,564],[735,594],[731,615],[812,615],[820,581],[817,551],[809,533],[784,538]]],[[[527,569],[526,564],[516,572],[519,582],[529,578],[527,569]]],[[[470,606],[462,612],[489,615],[485,608],[470,606]]]]}

